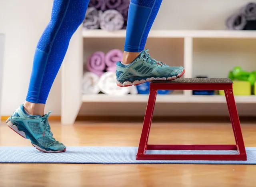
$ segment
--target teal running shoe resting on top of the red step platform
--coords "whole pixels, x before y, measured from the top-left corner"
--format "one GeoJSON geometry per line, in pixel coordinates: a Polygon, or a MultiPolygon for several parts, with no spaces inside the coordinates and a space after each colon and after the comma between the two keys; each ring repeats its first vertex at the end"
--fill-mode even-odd
{"type": "Polygon", "coordinates": [[[151,81],[169,81],[180,78],[184,73],[182,66],[168,66],[151,58],[146,49],[129,65],[116,63],[116,84],[126,87],[151,81]]]}

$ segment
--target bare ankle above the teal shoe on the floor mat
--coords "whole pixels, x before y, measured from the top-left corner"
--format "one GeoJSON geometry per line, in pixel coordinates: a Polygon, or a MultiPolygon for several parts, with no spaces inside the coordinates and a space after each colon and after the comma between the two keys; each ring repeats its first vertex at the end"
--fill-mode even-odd
{"type": "Polygon", "coordinates": [[[31,103],[28,101],[25,101],[24,104],[25,111],[30,115],[44,115],[44,107],[45,104],[42,103],[31,103]]]}

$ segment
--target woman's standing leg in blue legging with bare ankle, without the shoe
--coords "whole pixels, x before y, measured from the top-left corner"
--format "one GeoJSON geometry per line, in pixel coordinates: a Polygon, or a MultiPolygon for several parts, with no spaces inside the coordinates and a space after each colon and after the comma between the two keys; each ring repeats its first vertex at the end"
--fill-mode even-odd
{"type": "Polygon", "coordinates": [[[42,34],[24,107],[32,115],[43,115],[46,99],[60,69],[70,38],[83,22],[89,0],[54,0],[52,18],[42,34]]]}

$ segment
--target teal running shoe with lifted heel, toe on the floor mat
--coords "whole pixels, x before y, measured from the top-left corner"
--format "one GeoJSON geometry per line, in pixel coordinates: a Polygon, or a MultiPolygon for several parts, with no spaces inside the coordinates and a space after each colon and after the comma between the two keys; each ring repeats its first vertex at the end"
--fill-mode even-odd
{"type": "Polygon", "coordinates": [[[10,116],[6,123],[13,131],[26,139],[30,139],[32,145],[39,151],[46,153],[59,153],[66,151],[65,145],[56,141],[48,123],[48,117],[52,111],[44,116],[27,115],[23,105],[20,105],[10,116]]]}

